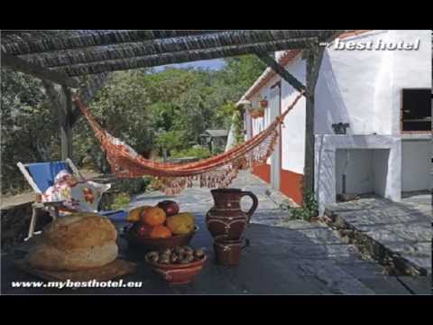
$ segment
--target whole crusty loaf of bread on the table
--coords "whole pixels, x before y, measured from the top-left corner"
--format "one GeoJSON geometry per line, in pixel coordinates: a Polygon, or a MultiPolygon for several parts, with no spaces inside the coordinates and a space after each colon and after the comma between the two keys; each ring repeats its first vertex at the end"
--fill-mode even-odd
{"type": "Polygon", "coordinates": [[[27,255],[34,268],[79,271],[111,263],[118,254],[117,232],[108,218],[75,213],[51,222],[43,230],[41,244],[27,255]]]}

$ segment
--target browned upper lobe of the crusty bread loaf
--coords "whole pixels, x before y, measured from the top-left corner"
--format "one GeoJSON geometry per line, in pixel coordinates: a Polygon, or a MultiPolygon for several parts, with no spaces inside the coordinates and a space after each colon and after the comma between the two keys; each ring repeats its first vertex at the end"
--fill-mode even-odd
{"type": "Polygon", "coordinates": [[[57,218],[43,229],[43,241],[60,250],[103,246],[115,241],[113,223],[96,213],[74,213],[57,218]]]}

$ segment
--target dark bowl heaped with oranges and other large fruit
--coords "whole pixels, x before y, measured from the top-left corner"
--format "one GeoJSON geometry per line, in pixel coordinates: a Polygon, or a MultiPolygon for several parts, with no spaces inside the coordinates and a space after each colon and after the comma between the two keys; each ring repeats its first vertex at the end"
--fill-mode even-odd
{"type": "Polygon", "coordinates": [[[143,206],[130,211],[124,237],[130,246],[144,250],[161,250],[186,246],[198,231],[189,212],[179,212],[175,201],[164,200],[156,206],[143,206]]]}

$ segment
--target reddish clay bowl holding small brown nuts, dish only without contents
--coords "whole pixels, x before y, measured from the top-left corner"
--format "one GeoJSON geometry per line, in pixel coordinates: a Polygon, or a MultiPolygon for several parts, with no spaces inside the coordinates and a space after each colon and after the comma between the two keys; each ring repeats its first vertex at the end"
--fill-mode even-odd
{"type": "Polygon", "coordinates": [[[153,263],[145,257],[146,263],[151,265],[153,271],[161,274],[162,279],[170,284],[190,283],[200,273],[206,260],[207,255],[204,255],[202,259],[188,264],[160,264],[153,263]]]}

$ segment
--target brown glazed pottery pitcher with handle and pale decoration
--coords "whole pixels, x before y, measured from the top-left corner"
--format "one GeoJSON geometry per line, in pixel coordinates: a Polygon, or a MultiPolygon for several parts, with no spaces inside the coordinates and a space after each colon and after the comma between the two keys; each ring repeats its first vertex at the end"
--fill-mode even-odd
{"type": "Polygon", "coordinates": [[[215,206],[207,211],[206,226],[212,237],[226,235],[227,239],[240,239],[259,204],[251,191],[240,189],[211,190],[215,206]],[[241,199],[249,196],[253,206],[247,212],[241,209],[241,199]]]}

